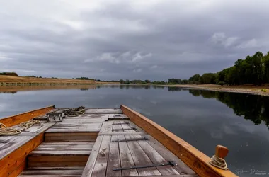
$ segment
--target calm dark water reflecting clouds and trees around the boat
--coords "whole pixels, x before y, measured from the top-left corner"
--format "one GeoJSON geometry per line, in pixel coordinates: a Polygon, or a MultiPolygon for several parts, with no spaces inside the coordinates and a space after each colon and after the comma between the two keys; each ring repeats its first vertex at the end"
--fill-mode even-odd
{"type": "Polygon", "coordinates": [[[255,176],[253,170],[269,173],[269,97],[160,86],[7,91],[0,92],[0,118],[47,105],[115,108],[120,104],[207,156],[214,154],[217,144],[228,147],[227,164],[239,176],[255,176]]]}

